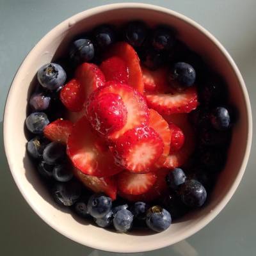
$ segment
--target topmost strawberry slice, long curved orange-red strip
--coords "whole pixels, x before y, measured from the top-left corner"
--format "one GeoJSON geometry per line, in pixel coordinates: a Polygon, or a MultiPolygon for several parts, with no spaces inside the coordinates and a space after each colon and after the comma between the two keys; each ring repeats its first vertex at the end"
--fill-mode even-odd
{"type": "Polygon", "coordinates": [[[126,42],[118,42],[110,49],[108,56],[118,56],[128,67],[128,84],[144,93],[144,83],[140,67],[140,59],[136,51],[126,42]]]}

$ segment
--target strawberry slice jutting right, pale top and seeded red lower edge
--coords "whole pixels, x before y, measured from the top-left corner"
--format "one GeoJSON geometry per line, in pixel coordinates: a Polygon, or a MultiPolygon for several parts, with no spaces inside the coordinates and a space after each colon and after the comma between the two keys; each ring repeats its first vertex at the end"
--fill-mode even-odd
{"type": "Polygon", "coordinates": [[[191,87],[183,92],[148,94],[148,107],[162,115],[189,113],[198,106],[196,88],[191,87]]]}

